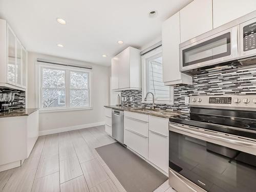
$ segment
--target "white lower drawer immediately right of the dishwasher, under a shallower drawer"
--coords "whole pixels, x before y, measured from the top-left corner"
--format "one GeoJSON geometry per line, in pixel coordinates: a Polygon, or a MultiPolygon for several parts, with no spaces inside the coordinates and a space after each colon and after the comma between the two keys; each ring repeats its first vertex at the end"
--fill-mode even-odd
{"type": "Polygon", "coordinates": [[[131,130],[124,129],[124,144],[146,159],[148,156],[147,143],[147,137],[139,135],[131,130]]]}

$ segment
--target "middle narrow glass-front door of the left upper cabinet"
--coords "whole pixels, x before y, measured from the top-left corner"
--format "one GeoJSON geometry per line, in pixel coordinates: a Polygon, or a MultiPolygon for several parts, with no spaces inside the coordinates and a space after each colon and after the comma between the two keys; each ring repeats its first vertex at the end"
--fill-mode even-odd
{"type": "Polygon", "coordinates": [[[17,86],[22,86],[22,44],[16,38],[16,82],[17,86]]]}

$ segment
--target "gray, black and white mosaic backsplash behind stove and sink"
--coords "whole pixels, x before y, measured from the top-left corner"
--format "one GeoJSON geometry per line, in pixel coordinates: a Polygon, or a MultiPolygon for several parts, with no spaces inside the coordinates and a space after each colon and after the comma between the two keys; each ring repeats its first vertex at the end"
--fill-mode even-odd
{"type": "MultiPolygon", "coordinates": [[[[232,70],[219,69],[215,72],[193,76],[193,84],[180,84],[174,88],[174,105],[158,104],[160,108],[189,112],[185,97],[191,95],[246,95],[256,94],[256,66],[232,70]]],[[[141,91],[122,91],[126,101],[121,104],[145,105],[141,91]],[[133,101],[130,101],[130,96],[133,101]]]]}

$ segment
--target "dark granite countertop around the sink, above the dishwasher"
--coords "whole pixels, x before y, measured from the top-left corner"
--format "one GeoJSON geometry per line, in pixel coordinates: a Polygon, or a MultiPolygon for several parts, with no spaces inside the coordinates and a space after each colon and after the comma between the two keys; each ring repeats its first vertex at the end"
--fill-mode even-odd
{"type": "Polygon", "coordinates": [[[139,107],[133,107],[133,106],[106,105],[104,107],[119,110],[119,111],[130,111],[134,113],[141,113],[145,115],[152,115],[152,116],[163,117],[163,118],[170,118],[170,117],[184,114],[179,111],[161,110],[161,109],[156,109],[153,111],[153,110],[147,110],[145,108],[139,108],[139,107]],[[143,109],[145,110],[143,111],[143,109]]]}

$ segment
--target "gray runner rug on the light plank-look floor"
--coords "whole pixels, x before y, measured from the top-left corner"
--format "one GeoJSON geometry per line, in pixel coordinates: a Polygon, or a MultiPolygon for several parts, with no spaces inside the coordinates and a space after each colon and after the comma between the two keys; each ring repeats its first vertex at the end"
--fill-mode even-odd
{"type": "Polygon", "coordinates": [[[119,143],[95,148],[127,192],[153,192],[168,178],[119,143]]]}

